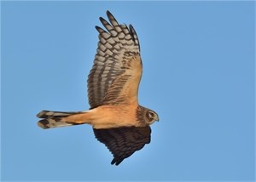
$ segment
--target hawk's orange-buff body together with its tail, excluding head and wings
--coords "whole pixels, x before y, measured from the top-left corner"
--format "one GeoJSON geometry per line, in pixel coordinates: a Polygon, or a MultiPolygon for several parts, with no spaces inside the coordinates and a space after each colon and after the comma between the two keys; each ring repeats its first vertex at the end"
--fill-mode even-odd
{"type": "Polygon", "coordinates": [[[70,115],[65,112],[64,116],[61,115],[63,112],[41,111],[38,113],[38,117],[42,118],[44,115],[46,119],[38,122],[38,125],[41,128],[56,128],[65,126],[63,125],[64,122],[67,123],[67,126],[86,123],[96,129],[146,126],[147,123],[138,121],[136,118],[137,107],[137,105],[102,105],[89,111],[71,112],[70,115]],[[49,121],[49,118],[54,123],[48,122],[45,124],[45,122],[49,121]],[[58,125],[53,118],[56,118],[55,120],[61,122],[62,125],[58,125]]]}

